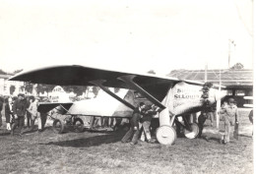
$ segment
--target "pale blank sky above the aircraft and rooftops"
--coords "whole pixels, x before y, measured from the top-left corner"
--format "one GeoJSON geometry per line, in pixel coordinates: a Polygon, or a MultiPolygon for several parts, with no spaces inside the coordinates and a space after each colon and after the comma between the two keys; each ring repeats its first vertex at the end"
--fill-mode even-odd
{"type": "Polygon", "coordinates": [[[251,0],[0,0],[0,69],[252,69],[251,0]],[[228,40],[233,40],[234,44],[228,40]]]}

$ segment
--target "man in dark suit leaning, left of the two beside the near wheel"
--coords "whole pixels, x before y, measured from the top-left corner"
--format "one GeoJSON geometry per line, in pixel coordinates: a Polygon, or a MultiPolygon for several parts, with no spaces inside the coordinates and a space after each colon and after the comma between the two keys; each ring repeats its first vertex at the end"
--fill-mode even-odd
{"type": "Polygon", "coordinates": [[[141,102],[139,107],[136,107],[133,111],[132,118],[130,119],[131,127],[129,131],[125,134],[122,139],[122,143],[128,143],[131,139],[131,145],[136,145],[138,143],[139,134],[140,134],[140,119],[143,117],[144,109],[146,105],[144,102],[141,102]]]}

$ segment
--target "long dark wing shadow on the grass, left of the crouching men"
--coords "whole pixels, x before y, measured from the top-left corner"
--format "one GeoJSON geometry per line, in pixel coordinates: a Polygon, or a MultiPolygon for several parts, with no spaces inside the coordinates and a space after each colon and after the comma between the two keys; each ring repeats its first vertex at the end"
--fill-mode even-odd
{"type": "MultiPolygon", "coordinates": [[[[100,132],[102,133],[102,132],[100,132]]],[[[59,145],[59,146],[71,146],[71,147],[90,147],[102,144],[113,144],[120,142],[125,132],[112,132],[107,135],[100,135],[90,138],[81,138],[70,141],[62,141],[62,142],[49,142],[47,144],[39,144],[39,145],[59,145]]]]}

